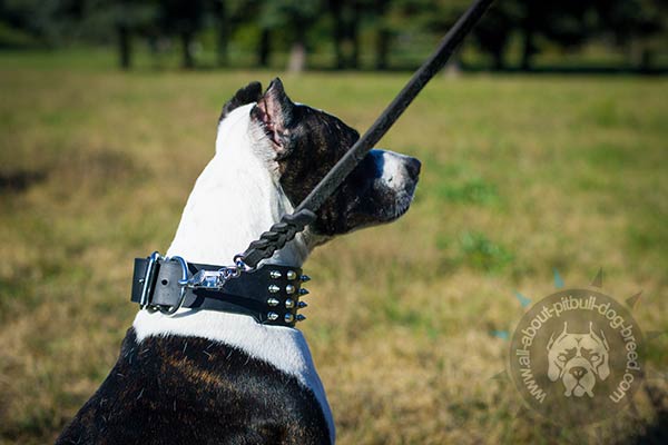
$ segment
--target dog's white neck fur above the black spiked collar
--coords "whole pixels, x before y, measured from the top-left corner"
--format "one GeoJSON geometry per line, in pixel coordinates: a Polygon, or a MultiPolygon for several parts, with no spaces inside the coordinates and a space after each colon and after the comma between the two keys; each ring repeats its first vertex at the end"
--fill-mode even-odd
{"type": "MultiPolygon", "coordinates": [[[[263,149],[254,147],[248,131],[234,130],[244,128],[237,121],[244,118],[234,112],[222,121],[216,155],[195,184],[167,256],[229,266],[235,255],[292,212],[263,149]]],[[[306,236],[299,234],[267,263],[301,267],[308,251],[306,236]]]]}

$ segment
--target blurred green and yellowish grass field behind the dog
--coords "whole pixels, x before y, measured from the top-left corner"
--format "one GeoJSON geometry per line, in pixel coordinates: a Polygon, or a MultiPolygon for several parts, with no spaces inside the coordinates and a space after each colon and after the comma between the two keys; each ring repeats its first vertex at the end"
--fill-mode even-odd
{"type": "MultiPolygon", "coordinates": [[[[36,63],[39,65],[39,63],[36,63]]],[[[273,72],[35,68],[0,57],[0,443],[52,441],[116,360],[131,261],[165,251],[220,106],[273,72]]],[[[364,130],[406,75],[285,76],[364,130]]],[[[581,429],[522,402],[505,367],[515,291],[587,286],[668,330],[668,81],[435,79],[382,146],[423,161],[412,210],[306,264],[303,328],[342,444],[612,443],[666,435],[668,336],[636,411],[581,429]]],[[[239,246],[242,249],[245,246],[239,246]]],[[[665,436],[664,436],[665,437],[665,436]]]]}

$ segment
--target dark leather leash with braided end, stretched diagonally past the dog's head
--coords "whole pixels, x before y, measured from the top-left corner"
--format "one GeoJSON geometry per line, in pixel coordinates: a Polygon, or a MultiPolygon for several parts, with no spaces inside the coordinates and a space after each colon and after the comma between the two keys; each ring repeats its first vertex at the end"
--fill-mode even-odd
{"type": "Polygon", "coordinates": [[[338,160],[330,172],[317,184],[308,196],[291,215],[284,215],[279,222],[261,235],[259,239],[250,243],[248,248],[234,258],[237,266],[244,269],[254,269],[259,261],[269,258],[281,249],[296,234],[313,222],[315,211],[332,196],[355,166],[377,144],[379,140],[394,125],[422,88],[445,66],[450,56],[480,20],[493,0],[475,0],[475,2],[454,23],[441,41],[433,55],[413,73],[409,83],[401,90],[371,128],[353,145],[353,147],[338,160]]]}

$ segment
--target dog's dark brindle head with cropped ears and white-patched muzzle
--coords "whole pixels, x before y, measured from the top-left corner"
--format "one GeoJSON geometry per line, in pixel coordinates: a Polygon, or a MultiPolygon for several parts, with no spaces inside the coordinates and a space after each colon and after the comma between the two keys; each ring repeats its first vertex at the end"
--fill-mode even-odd
{"type": "MultiPolygon", "coordinates": [[[[296,207],[360,138],[338,118],[293,102],[279,79],[263,93],[258,82],[242,88],[225,105],[220,119],[248,113],[248,136],[258,157],[296,207]]],[[[219,126],[218,139],[225,126],[219,126]]],[[[372,150],[317,211],[310,226],[316,243],[366,226],[389,222],[411,204],[420,161],[392,151],[372,150]]]]}

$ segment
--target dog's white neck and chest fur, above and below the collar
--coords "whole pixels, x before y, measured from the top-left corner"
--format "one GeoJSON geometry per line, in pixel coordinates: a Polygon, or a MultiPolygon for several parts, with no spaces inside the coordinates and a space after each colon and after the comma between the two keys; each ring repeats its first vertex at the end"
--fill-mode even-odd
{"type": "MultiPolygon", "coordinates": [[[[229,265],[234,255],[292,211],[267,168],[269,154],[248,132],[250,107],[234,110],[220,122],[216,155],[195,184],[167,256],[229,265]]],[[[305,236],[298,235],[267,263],[301,266],[308,251],[305,236]]],[[[259,325],[242,315],[190,309],[174,317],[140,310],[134,327],[139,342],[157,335],[198,336],[237,347],[295,376],[321,403],[334,442],[325,392],[299,330],[259,325]]]]}

